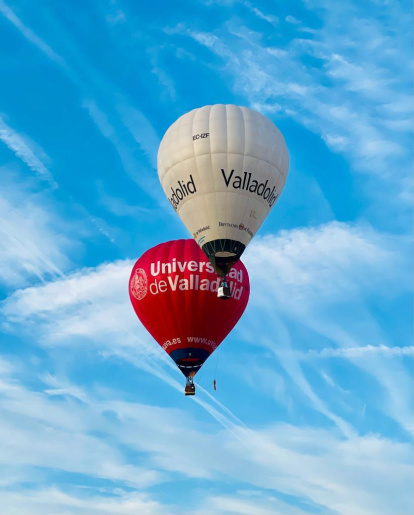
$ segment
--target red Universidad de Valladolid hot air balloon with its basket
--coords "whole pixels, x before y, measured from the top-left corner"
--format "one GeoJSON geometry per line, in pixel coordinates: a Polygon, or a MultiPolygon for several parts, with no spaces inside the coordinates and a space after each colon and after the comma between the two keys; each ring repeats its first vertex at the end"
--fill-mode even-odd
{"type": "Polygon", "coordinates": [[[230,298],[217,298],[221,282],[194,240],[161,243],[135,263],[129,296],[138,318],[187,378],[193,378],[243,314],[249,276],[238,261],[227,276],[230,298]]]}

